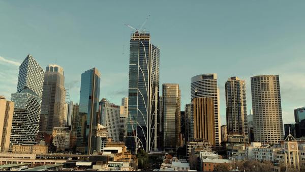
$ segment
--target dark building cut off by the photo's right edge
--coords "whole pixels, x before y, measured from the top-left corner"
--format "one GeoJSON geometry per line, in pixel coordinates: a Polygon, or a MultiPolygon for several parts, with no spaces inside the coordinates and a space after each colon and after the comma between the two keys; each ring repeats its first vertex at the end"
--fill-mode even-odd
{"type": "Polygon", "coordinates": [[[305,107],[294,109],[296,137],[305,137],[305,107]]]}

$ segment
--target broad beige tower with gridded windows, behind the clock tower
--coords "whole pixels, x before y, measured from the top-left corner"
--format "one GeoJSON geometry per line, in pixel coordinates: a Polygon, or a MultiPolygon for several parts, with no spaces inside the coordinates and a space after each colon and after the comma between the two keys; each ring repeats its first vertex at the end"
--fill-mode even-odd
{"type": "Polygon", "coordinates": [[[279,143],[283,119],[279,75],[251,77],[254,140],[279,143]]]}

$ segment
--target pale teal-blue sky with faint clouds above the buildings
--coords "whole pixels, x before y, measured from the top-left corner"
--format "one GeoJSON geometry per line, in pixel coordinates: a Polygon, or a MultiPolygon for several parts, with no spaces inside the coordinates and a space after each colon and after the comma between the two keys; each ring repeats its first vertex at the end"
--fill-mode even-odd
{"type": "Polygon", "coordinates": [[[283,121],[294,122],[293,109],[305,106],[304,9],[305,1],[0,1],[0,95],[16,92],[18,64],[31,53],[44,69],[64,68],[71,100],[79,101],[81,73],[97,67],[100,98],[120,104],[128,92],[124,23],[139,27],[149,14],[160,85],[179,83],[182,107],[192,76],[217,73],[225,124],[229,77],[246,80],[249,111],[250,77],[278,74],[283,121]]]}

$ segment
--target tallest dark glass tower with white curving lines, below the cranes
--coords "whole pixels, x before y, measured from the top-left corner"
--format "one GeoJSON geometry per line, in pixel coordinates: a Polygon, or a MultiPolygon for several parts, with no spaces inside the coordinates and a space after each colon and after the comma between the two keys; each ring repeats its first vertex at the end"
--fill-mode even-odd
{"type": "Polygon", "coordinates": [[[157,150],[159,57],[149,33],[131,33],[126,145],[136,154],[157,150]]]}

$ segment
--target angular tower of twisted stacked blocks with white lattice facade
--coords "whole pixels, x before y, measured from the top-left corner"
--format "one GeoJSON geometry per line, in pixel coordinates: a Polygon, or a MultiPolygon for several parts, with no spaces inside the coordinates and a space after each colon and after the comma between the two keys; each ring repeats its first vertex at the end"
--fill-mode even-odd
{"type": "Polygon", "coordinates": [[[11,101],[15,102],[10,148],[35,141],[39,129],[41,97],[44,71],[28,54],[19,66],[17,93],[13,93],[11,101]]]}

